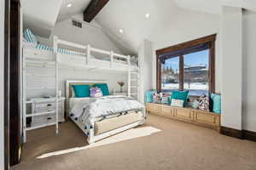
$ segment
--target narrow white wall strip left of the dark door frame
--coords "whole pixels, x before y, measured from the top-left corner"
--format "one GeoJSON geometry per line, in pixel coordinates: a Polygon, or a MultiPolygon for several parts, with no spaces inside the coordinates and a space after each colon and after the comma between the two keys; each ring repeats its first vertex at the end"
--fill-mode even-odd
{"type": "Polygon", "coordinates": [[[4,1],[0,1],[0,169],[4,169],[3,127],[4,1]]]}

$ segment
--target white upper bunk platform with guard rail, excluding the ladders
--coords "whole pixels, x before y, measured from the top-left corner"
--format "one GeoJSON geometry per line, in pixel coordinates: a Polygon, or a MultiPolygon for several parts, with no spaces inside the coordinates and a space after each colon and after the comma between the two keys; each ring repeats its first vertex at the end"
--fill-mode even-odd
{"type": "MultiPolygon", "coordinates": [[[[90,47],[90,45],[81,45],[78,43],[67,42],[58,37],[54,37],[54,44],[57,48],[58,62],[60,68],[79,68],[79,69],[100,69],[111,71],[137,71],[138,66],[131,63],[131,57],[123,54],[116,54],[113,51],[106,51],[99,48],[90,47]],[[59,46],[75,48],[67,50],[59,46]],[[96,57],[92,54],[97,54],[96,57]],[[100,57],[104,55],[104,57],[100,57]]],[[[55,54],[52,48],[23,48],[26,59],[32,61],[54,61],[55,54]]],[[[47,63],[45,63],[47,64],[47,63]]]]}

